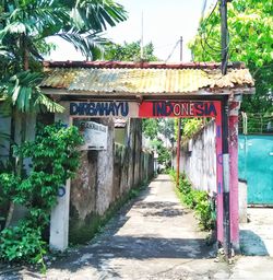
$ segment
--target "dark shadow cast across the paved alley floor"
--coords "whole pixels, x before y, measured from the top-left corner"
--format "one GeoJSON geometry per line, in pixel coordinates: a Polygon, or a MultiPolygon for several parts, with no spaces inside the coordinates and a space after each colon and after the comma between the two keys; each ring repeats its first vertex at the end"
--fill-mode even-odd
{"type": "MultiPolygon", "coordinates": [[[[155,179],[154,182],[169,182],[169,179],[155,179]]],[[[151,260],[154,259],[204,259],[215,257],[215,250],[206,244],[204,238],[166,238],[157,232],[154,234],[127,235],[118,233],[128,222],[130,215],[127,213],[132,209],[142,213],[142,217],[158,217],[158,219],[179,219],[188,214],[189,210],[179,207],[177,202],[170,201],[143,201],[151,194],[151,187],[143,190],[141,196],[126,205],[105,226],[104,232],[98,234],[87,245],[74,247],[67,255],[58,258],[50,269],[76,272],[79,269],[94,268],[100,273],[99,279],[119,278],[116,267],[111,267],[112,260],[151,260]],[[105,278],[104,278],[105,276],[105,278]]],[[[173,221],[173,220],[171,220],[173,221]]],[[[178,220],[180,222],[180,220],[178,220]]],[[[185,220],[186,221],[186,220],[185,220]]],[[[145,226],[145,225],[143,225],[145,226]]],[[[171,229],[170,229],[171,230],[171,229]]],[[[36,277],[37,271],[24,272],[36,277]],[[35,275],[36,273],[36,275],[35,275]]],[[[4,275],[3,275],[4,276],[4,275]]],[[[0,272],[1,279],[1,272],[0,272]]],[[[14,272],[13,278],[22,279],[20,271],[14,272]]]]}

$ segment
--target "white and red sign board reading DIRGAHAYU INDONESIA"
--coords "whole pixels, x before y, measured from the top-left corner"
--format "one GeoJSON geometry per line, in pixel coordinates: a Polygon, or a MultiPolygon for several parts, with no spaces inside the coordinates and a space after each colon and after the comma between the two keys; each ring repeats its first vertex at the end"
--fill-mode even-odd
{"type": "Polygon", "coordinates": [[[219,113],[215,101],[142,101],[136,102],[72,102],[70,116],[81,117],[216,117],[219,113]]]}

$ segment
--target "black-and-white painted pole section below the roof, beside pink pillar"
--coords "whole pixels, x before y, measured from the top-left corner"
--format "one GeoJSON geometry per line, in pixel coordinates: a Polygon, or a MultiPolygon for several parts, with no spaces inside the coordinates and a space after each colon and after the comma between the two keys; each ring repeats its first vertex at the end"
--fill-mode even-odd
{"type": "Polygon", "coordinates": [[[224,250],[226,258],[232,256],[230,244],[230,209],[229,209],[229,153],[228,153],[228,100],[222,102],[222,127],[223,127],[223,226],[224,226],[224,250]]]}

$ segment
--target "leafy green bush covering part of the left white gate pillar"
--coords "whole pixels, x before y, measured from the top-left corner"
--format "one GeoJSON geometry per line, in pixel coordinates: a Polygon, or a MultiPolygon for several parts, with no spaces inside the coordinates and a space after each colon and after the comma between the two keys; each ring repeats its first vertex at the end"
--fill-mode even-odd
{"type": "Polygon", "coordinates": [[[49,223],[59,187],[75,174],[80,158],[76,147],[82,142],[76,127],[58,122],[38,129],[35,141],[14,147],[15,155],[32,159],[32,171],[27,177],[0,174],[0,187],[4,197],[25,206],[29,212],[17,226],[0,233],[0,258],[44,266],[41,232],[49,223]]]}

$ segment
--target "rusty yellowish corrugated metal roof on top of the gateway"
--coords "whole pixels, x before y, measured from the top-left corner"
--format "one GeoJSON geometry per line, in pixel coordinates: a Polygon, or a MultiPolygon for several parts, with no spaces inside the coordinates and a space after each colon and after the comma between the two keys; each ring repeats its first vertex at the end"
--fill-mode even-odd
{"type": "Polygon", "coordinates": [[[248,69],[52,68],[41,86],[85,93],[190,93],[201,89],[253,86],[248,69]]]}

